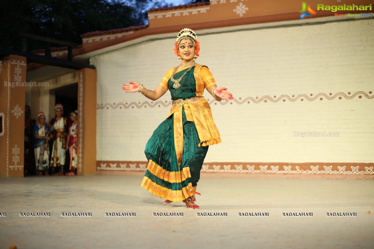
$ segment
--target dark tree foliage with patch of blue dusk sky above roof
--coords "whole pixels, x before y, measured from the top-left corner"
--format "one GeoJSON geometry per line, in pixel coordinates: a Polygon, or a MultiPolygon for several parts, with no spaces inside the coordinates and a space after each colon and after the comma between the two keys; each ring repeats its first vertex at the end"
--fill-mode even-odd
{"type": "MultiPolygon", "coordinates": [[[[80,35],[87,32],[147,24],[147,10],[159,7],[168,4],[162,0],[6,0],[0,15],[0,47],[20,50],[19,32],[81,44],[80,35]]],[[[29,50],[40,48],[43,43],[29,43],[29,50]]]]}

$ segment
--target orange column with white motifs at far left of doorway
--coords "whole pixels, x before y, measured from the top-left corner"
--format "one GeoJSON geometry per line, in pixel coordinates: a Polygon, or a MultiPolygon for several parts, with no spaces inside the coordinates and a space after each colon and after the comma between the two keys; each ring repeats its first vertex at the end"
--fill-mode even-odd
{"type": "Polygon", "coordinates": [[[26,58],[0,62],[0,176],[24,176],[26,58]],[[2,118],[1,118],[2,117],[2,118]]]}

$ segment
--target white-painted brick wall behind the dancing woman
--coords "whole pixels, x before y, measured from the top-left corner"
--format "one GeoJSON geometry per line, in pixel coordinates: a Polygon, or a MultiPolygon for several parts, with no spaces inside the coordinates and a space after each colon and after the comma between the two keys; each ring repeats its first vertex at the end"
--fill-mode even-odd
{"type": "MultiPolygon", "coordinates": [[[[373,92],[372,20],[197,35],[201,51],[196,61],[207,65],[218,85],[236,98],[211,105],[223,142],[210,146],[205,162],[374,162],[374,99],[243,103],[266,95],[373,92]],[[294,137],[294,131],[340,136],[302,138],[294,137]]],[[[153,90],[180,63],[172,51],[174,41],[153,40],[92,57],[98,105],[151,103],[121,86],[137,81],[153,90]]],[[[204,96],[211,100],[209,93],[204,96]]],[[[169,92],[160,100],[169,102],[169,92]]],[[[145,144],[170,107],[99,108],[97,160],[145,161],[145,144]]]]}

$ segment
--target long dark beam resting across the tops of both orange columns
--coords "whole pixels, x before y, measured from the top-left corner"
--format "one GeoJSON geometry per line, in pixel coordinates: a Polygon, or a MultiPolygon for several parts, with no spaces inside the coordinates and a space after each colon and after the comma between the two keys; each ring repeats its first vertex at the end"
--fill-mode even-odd
{"type": "Polygon", "coordinates": [[[43,55],[36,55],[33,53],[25,53],[25,52],[19,52],[16,50],[0,48],[1,58],[4,56],[8,56],[8,55],[23,56],[27,58],[27,62],[39,63],[39,64],[49,65],[49,66],[59,66],[61,68],[71,68],[71,69],[76,69],[76,70],[83,69],[83,68],[96,69],[94,65],[80,63],[80,62],[76,62],[73,60],[64,60],[64,59],[55,58],[55,57],[48,57],[48,56],[43,56],[43,55]]]}

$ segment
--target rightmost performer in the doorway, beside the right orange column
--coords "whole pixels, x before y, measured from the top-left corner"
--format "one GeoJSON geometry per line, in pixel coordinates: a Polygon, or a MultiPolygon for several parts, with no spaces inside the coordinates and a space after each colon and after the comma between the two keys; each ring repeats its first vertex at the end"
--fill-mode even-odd
{"type": "Polygon", "coordinates": [[[70,119],[73,123],[70,124],[68,128],[68,144],[66,145],[66,150],[69,150],[70,152],[70,172],[65,173],[65,175],[77,174],[77,115],[77,110],[70,113],[70,119]]]}

